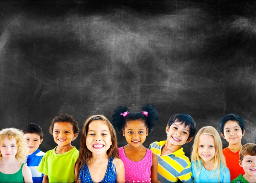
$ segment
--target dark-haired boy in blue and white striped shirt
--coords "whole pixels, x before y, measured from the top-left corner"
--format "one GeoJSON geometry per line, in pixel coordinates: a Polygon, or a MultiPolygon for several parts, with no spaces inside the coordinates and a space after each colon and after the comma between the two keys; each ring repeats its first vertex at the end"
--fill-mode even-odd
{"type": "Polygon", "coordinates": [[[29,149],[26,164],[31,170],[33,182],[41,183],[43,181],[44,174],[39,172],[37,167],[45,153],[38,149],[38,147],[43,141],[44,132],[41,127],[35,123],[29,123],[26,125],[22,129],[22,132],[25,134],[29,149]]]}

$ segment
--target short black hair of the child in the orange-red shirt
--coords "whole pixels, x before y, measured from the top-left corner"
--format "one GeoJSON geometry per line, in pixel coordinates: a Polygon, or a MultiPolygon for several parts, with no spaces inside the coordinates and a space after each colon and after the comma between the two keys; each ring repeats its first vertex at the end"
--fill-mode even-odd
{"type": "Polygon", "coordinates": [[[227,123],[227,121],[236,121],[240,128],[242,129],[242,133],[244,133],[244,121],[242,118],[237,114],[227,114],[223,116],[220,120],[220,131],[222,134],[224,134],[224,126],[227,123]]]}

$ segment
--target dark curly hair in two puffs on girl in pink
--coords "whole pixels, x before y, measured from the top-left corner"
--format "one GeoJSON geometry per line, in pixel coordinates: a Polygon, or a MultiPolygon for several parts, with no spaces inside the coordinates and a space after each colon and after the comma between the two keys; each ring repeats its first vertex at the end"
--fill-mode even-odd
{"type": "Polygon", "coordinates": [[[113,126],[117,128],[118,132],[122,132],[122,129],[125,129],[126,123],[131,120],[142,120],[148,128],[148,134],[150,134],[154,127],[157,126],[157,121],[159,119],[159,114],[157,109],[151,105],[144,105],[142,107],[142,111],[148,112],[148,116],[146,117],[142,112],[131,112],[127,114],[125,117],[121,115],[121,113],[129,112],[128,107],[126,106],[118,106],[116,110],[113,112],[113,126]]]}

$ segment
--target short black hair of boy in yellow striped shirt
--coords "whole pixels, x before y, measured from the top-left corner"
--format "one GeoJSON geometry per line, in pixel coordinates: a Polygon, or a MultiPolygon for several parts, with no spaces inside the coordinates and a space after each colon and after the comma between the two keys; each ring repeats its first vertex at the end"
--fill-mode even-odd
{"type": "Polygon", "coordinates": [[[173,123],[180,122],[185,123],[185,128],[189,126],[189,137],[194,137],[196,132],[195,120],[189,114],[174,114],[170,117],[167,125],[170,127],[173,123]]]}

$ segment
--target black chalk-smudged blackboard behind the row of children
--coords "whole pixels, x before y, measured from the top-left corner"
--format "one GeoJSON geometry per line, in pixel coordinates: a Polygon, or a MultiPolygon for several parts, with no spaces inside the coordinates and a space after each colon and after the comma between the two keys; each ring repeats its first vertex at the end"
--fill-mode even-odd
{"type": "MultiPolygon", "coordinates": [[[[1,1],[0,128],[37,123],[40,149],[56,144],[49,123],[72,114],[112,120],[116,106],[145,103],[160,120],[144,145],[165,140],[169,117],[214,126],[244,120],[255,143],[256,4],[233,0],[1,1]]],[[[118,134],[118,145],[125,138],[118,134]]],[[[223,139],[224,147],[227,142],[223,139]]],[[[79,148],[79,137],[73,142],[79,148]]],[[[183,146],[190,156],[192,142],[183,146]]]]}

